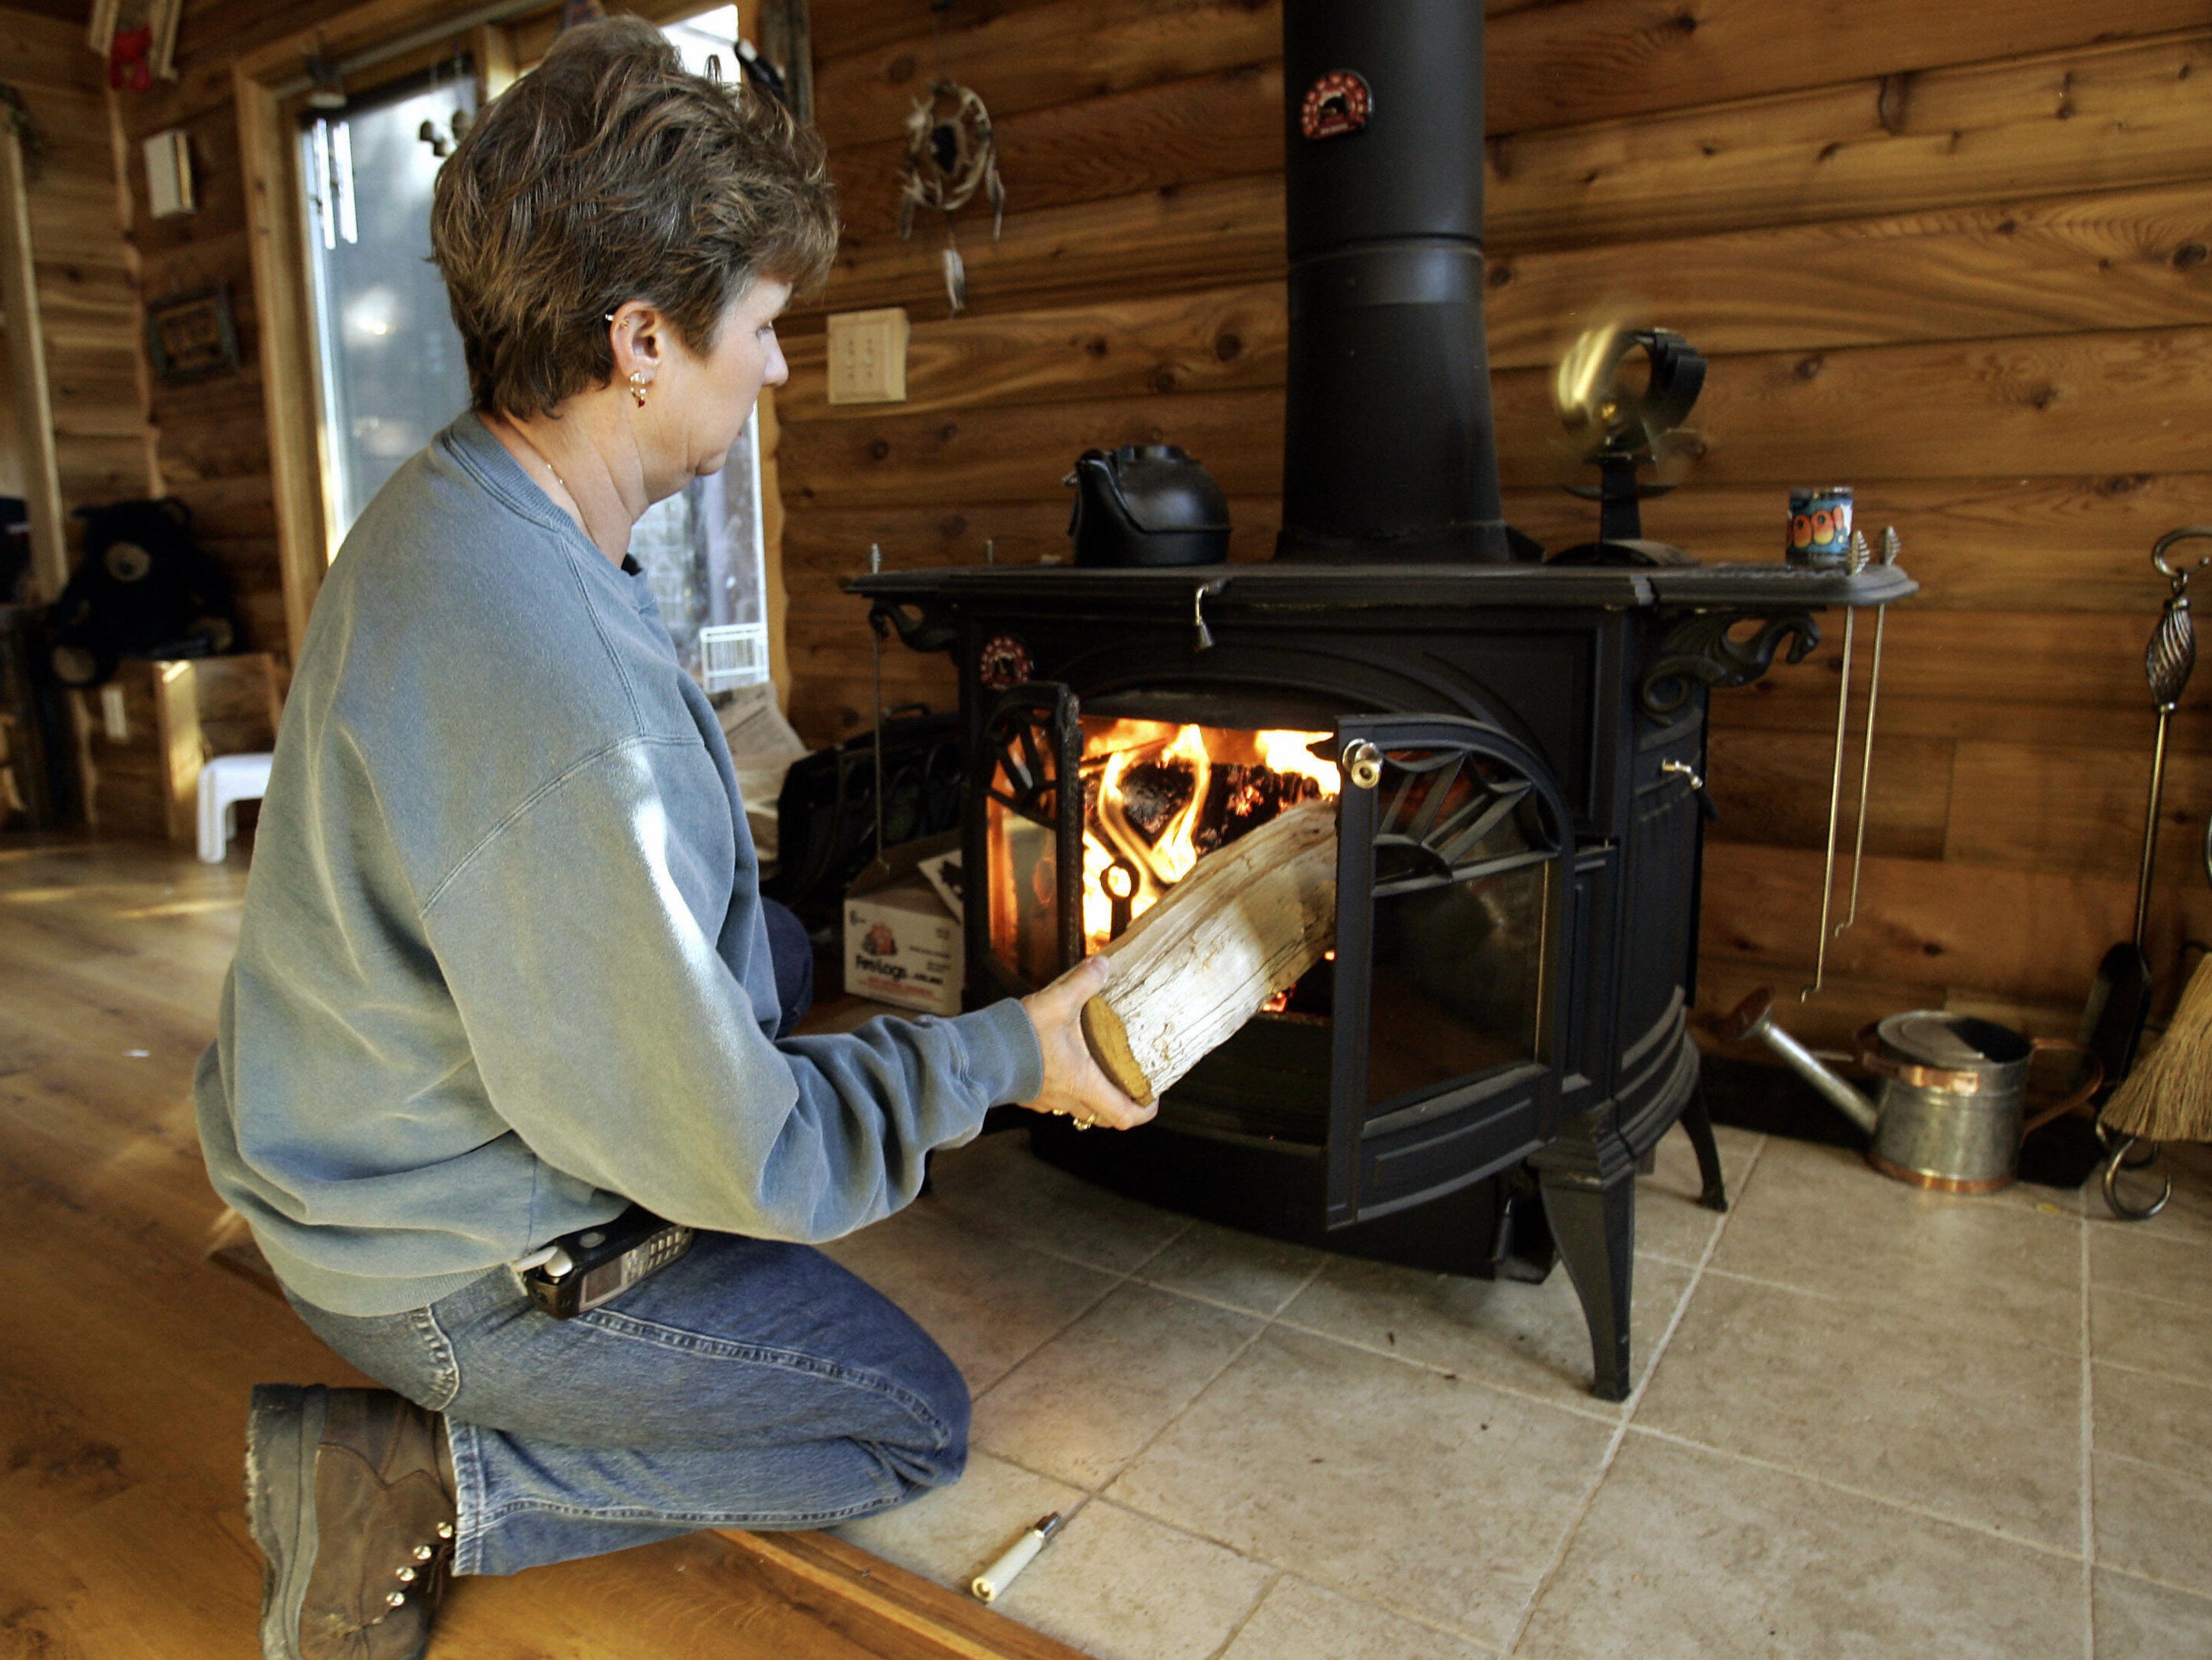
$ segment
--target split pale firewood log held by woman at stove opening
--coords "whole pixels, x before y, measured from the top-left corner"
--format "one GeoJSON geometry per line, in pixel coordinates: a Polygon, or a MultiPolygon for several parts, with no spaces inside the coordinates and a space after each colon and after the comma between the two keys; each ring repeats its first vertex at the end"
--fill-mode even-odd
{"type": "Polygon", "coordinates": [[[1155,1101],[1336,944],[1336,802],[1292,807],[1208,853],[1113,942],[1084,1006],[1093,1059],[1155,1101]]]}

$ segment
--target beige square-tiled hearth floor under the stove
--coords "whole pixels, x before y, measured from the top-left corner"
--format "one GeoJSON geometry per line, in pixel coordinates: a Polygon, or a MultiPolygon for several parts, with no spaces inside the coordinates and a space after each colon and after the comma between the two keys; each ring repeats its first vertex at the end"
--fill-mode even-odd
{"type": "Polygon", "coordinates": [[[1272,1244],[998,1134],[832,1251],[975,1393],[967,1479],[845,1530],[1099,1660],[2212,1656],[2212,1152],[2166,1216],[1940,1198],[1721,1132],[1639,1185],[1637,1393],[1542,1286],[1272,1244]]]}

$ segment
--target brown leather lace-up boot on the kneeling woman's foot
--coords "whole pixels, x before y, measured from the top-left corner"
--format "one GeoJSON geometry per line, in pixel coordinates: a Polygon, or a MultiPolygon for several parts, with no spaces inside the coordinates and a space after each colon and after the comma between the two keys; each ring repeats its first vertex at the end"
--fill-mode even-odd
{"type": "Polygon", "coordinates": [[[431,1412],[385,1388],[257,1384],[246,1514],[263,1660],[420,1660],[453,1561],[431,1412]]]}

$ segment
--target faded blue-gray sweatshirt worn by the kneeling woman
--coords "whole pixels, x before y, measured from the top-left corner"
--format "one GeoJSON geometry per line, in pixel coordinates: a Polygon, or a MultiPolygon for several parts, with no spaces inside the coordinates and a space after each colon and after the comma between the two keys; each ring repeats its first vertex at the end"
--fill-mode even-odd
{"type": "Polygon", "coordinates": [[[836,1238],[1042,1081],[1011,1001],[774,1030],[714,710],[462,416],[314,606],[195,1085],[215,1189],[296,1295],[383,1315],[630,1200],[836,1238]]]}

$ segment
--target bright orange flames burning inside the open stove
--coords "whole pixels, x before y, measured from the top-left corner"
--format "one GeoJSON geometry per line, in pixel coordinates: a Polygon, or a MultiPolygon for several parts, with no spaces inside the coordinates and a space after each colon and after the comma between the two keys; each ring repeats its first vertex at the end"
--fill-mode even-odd
{"type": "MultiPolygon", "coordinates": [[[[1243,732],[1175,725],[1166,721],[1084,721],[1084,765],[1097,765],[1097,796],[1084,822],[1084,942],[1104,948],[1130,922],[1159,904],[1201,858],[1208,811],[1217,818],[1250,816],[1267,800],[1283,800],[1274,780],[1303,778],[1305,798],[1334,798],[1338,771],[1307,745],[1321,732],[1243,732]],[[1190,796],[1157,836],[1146,838],[1128,818],[1128,780],[1137,767],[1168,767],[1188,776],[1190,796]],[[1214,774],[1232,771],[1225,807],[1214,802],[1214,774]]],[[[1292,800],[1298,794],[1290,794],[1292,800]]]]}

